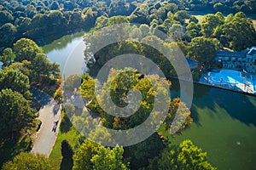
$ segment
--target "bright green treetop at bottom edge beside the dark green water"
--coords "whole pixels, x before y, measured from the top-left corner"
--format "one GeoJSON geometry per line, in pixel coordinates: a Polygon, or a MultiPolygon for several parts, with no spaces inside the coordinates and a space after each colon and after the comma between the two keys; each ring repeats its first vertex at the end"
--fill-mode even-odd
{"type": "Polygon", "coordinates": [[[207,161],[207,152],[195,146],[191,140],[184,140],[179,146],[172,145],[162,151],[159,157],[150,161],[148,169],[205,169],[215,167],[207,161]]]}

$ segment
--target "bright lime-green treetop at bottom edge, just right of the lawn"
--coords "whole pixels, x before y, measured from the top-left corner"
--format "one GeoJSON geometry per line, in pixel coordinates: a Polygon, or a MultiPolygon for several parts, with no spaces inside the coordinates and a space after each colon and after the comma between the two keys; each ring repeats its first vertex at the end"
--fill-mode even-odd
{"type": "Polygon", "coordinates": [[[97,154],[93,156],[90,161],[94,164],[94,170],[119,170],[128,169],[122,162],[124,149],[119,145],[115,146],[112,150],[110,148],[100,147],[97,154]]]}

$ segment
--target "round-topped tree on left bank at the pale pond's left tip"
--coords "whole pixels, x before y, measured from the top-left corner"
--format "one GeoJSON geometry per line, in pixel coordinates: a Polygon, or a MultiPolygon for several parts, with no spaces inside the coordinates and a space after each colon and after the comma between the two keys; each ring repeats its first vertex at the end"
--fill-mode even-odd
{"type": "Polygon", "coordinates": [[[38,53],[43,53],[43,50],[38,47],[36,42],[27,38],[21,38],[14,44],[14,52],[16,61],[29,60],[32,61],[38,53]]]}

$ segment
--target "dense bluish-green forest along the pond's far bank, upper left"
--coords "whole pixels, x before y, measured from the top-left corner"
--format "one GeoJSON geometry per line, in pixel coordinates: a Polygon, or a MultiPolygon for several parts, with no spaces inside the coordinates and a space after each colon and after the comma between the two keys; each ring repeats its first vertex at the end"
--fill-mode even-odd
{"type": "Polygon", "coordinates": [[[129,15],[134,2],[116,1],[26,1],[9,0],[0,5],[0,47],[10,47],[21,37],[40,44],[74,31],[88,31],[96,17],[129,15]]]}

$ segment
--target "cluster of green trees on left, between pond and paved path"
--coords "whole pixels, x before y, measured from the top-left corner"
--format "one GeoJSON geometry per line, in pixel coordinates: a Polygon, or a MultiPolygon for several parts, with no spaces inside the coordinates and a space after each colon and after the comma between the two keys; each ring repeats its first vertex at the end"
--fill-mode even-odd
{"type": "Polygon", "coordinates": [[[21,38],[14,50],[5,48],[0,56],[0,124],[1,139],[19,136],[20,130],[32,123],[31,85],[52,85],[57,82],[59,65],[50,63],[42,48],[30,39],[21,38]]]}

